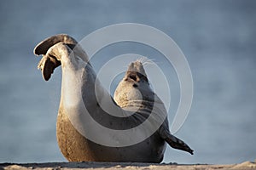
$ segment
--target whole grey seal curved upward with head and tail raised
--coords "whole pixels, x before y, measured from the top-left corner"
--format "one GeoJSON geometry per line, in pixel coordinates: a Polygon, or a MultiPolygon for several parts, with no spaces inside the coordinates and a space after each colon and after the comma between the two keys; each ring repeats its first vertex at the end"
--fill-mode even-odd
{"type": "Polygon", "coordinates": [[[46,81],[56,67],[61,65],[62,68],[56,135],[61,152],[68,161],[160,162],[166,143],[193,155],[187,144],[169,132],[165,106],[149,87],[141,62],[129,65],[112,99],[97,81],[87,54],[73,37],[66,34],[49,37],[38,44],[34,54],[43,55],[38,68],[46,81]],[[111,115],[109,111],[112,111],[111,115]],[[84,118],[86,113],[90,116],[84,118]],[[152,114],[155,116],[148,126],[157,129],[148,136],[144,135],[148,129],[138,129],[131,141],[142,136],[147,138],[134,144],[116,145],[125,143],[127,139],[118,138],[109,131],[104,133],[105,128],[102,130],[95,126],[101,124],[106,129],[130,129],[147,122],[152,114]],[[156,126],[159,122],[162,122],[160,126],[156,126]],[[102,141],[96,142],[96,139],[102,141]]]}

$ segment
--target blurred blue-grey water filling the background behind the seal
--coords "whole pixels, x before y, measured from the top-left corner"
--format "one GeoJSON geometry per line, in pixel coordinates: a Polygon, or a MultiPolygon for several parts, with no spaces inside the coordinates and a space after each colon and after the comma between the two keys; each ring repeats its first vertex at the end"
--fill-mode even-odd
{"type": "MultiPolygon", "coordinates": [[[[1,0],[0,21],[0,162],[66,161],[55,138],[61,68],[44,81],[37,70],[40,57],[32,53],[38,42],[58,33],[79,41],[103,26],[126,22],[164,31],[182,49],[192,71],[193,104],[175,135],[195,155],[167,147],[163,162],[256,159],[256,1],[1,0]]],[[[97,71],[111,56],[126,53],[165,65],[154,49],[129,42],[102,49],[92,65],[97,71]]],[[[178,80],[170,65],[162,68],[173,80],[171,126],[178,80]]]]}

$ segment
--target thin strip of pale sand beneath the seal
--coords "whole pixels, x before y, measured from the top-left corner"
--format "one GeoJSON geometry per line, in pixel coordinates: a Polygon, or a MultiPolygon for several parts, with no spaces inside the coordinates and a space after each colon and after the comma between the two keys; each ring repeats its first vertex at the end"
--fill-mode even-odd
{"type": "Polygon", "coordinates": [[[0,170],[7,169],[93,169],[93,170],[210,170],[210,169],[234,169],[234,170],[256,170],[256,163],[245,161],[239,164],[230,165],[181,165],[181,164],[154,164],[154,163],[115,163],[115,162],[47,162],[47,163],[1,163],[0,170]]]}

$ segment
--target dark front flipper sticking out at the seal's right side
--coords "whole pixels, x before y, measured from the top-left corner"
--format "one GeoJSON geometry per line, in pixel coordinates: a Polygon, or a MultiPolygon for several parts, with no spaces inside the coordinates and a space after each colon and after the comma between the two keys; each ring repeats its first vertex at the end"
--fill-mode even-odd
{"type": "Polygon", "coordinates": [[[160,127],[159,130],[160,133],[160,137],[164,140],[166,140],[166,142],[174,149],[177,150],[184,150],[189,152],[191,155],[193,155],[193,151],[189,148],[188,144],[185,144],[181,139],[176,138],[175,136],[173,136],[169,130],[167,130],[165,127],[160,127]]]}

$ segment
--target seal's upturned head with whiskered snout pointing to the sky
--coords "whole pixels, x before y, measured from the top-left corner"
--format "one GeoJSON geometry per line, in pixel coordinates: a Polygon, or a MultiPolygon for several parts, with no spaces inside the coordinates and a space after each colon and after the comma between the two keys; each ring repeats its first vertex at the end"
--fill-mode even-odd
{"type": "Polygon", "coordinates": [[[140,61],[132,62],[125,77],[119,82],[113,99],[120,107],[131,105],[137,101],[154,102],[154,92],[149,86],[148,77],[140,61]]]}

